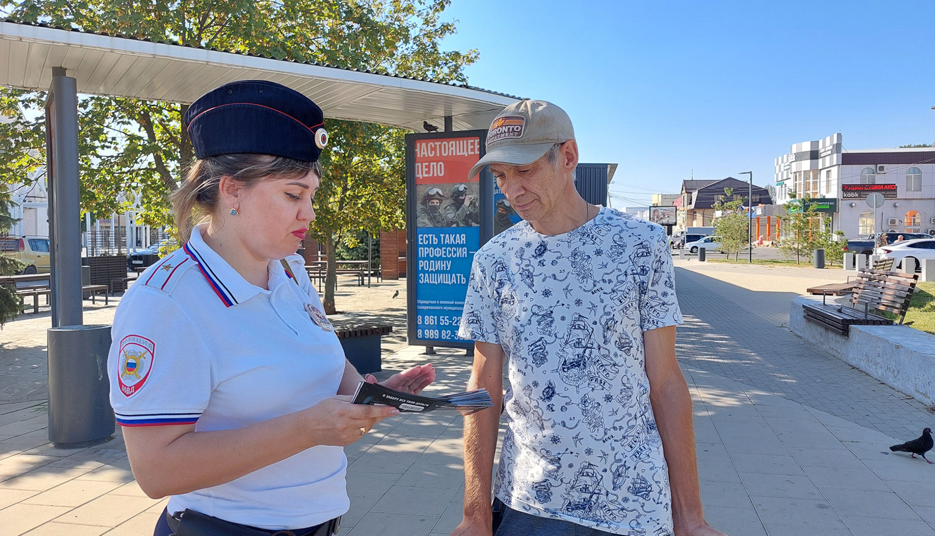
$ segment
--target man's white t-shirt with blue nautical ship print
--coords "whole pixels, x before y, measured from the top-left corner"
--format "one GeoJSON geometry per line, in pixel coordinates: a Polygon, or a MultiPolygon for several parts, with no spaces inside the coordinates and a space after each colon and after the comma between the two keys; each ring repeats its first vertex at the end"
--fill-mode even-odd
{"type": "Polygon", "coordinates": [[[682,323],[669,240],[618,210],[568,233],[513,225],[474,256],[459,335],[503,347],[496,497],[628,536],[672,532],[642,332],[682,323]]]}

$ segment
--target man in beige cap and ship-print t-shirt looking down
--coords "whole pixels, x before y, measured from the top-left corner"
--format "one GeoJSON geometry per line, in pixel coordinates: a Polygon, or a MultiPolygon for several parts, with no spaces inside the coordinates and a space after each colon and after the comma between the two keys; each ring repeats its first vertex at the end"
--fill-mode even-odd
{"type": "Polygon", "coordinates": [[[464,518],[453,535],[723,536],[704,520],[691,398],[675,358],[672,258],[659,225],[585,202],[568,115],[500,112],[485,165],[525,220],[474,256],[460,336],[471,389],[503,398],[465,424],[464,518]],[[502,508],[501,508],[502,507],[502,508]]]}

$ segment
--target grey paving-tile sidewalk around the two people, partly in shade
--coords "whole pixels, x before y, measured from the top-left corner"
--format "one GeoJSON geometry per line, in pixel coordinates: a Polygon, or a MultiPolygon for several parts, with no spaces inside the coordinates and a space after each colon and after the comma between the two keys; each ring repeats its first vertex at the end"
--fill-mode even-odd
{"type": "MultiPolygon", "coordinates": [[[[754,278],[746,286],[758,284],[755,270],[718,270],[682,267],[678,274],[688,320],[681,363],[695,400],[702,499],[712,524],[734,536],[935,536],[935,466],[890,453],[886,447],[910,439],[909,432],[856,422],[860,415],[841,409],[837,398],[849,398],[845,406],[855,411],[866,402],[885,418],[912,413],[901,425],[907,430],[928,414],[925,408],[886,397],[899,393],[825,360],[820,349],[783,351],[798,348],[798,338],[786,339],[795,336],[784,331],[779,309],[782,295],[796,294],[790,281],[798,275],[775,276],[763,285],[770,292],[755,292],[743,286],[743,277],[754,278]],[[816,356],[818,365],[810,364],[816,356]],[[816,367],[834,373],[806,385],[816,367]]],[[[389,298],[392,287],[378,290],[389,298]]],[[[362,300],[367,311],[376,310],[373,301],[362,300]]],[[[439,367],[430,392],[464,388],[470,370],[464,351],[425,356],[421,347],[398,346],[384,356],[386,369],[430,358],[439,367]]],[[[55,449],[45,404],[31,393],[0,403],[0,536],[149,536],[165,500],[139,490],[119,435],[92,448],[55,449]]],[[[340,533],[447,535],[461,516],[461,433],[460,416],[410,414],[383,421],[349,446],[352,508],[340,533]]]]}

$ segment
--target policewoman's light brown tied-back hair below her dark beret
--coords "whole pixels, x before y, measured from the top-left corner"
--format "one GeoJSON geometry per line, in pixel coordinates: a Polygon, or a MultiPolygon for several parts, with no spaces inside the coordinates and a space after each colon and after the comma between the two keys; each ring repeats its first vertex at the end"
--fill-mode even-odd
{"type": "Polygon", "coordinates": [[[180,241],[188,241],[194,225],[209,222],[216,213],[223,177],[230,177],[242,182],[244,188],[250,188],[265,179],[305,177],[309,171],[322,178],[322,165],[318,162],[284,156],[237,153],[195,160],[188,168],[185,180],[171,196],[180,241]]]}

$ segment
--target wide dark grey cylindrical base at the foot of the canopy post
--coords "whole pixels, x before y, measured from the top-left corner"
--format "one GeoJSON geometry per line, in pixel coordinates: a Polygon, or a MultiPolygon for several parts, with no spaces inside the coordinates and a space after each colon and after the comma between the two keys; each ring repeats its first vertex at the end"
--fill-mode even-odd
{"type": "Polygon", "coordinates": [[[114,433],[110,408],[110,326],[49,329],[49,441],[74,448],[114,433]]]}

